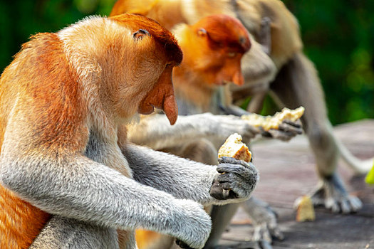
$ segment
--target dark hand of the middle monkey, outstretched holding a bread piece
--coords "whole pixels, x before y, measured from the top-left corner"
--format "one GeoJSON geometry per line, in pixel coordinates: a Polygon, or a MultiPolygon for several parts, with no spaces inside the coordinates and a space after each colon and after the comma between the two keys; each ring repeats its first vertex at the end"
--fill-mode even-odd
{"type": "Polygon", "coordinates": [[[303,133],[303,126],[300,120],[296,120],[295,122],[284,120],[279,124],[278,129],[269,129],[268,131],[265,131],[261,127],[260,129],[262,137],[279,139],[281,141],[289,141],[297,134],[303,133]]]}

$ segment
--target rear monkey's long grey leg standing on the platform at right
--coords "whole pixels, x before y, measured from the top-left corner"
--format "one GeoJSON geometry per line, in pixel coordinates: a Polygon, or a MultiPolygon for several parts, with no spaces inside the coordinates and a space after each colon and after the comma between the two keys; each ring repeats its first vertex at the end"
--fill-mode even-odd
{"type": "Polygon", "coordinates": [[[271,84],[279,105],[305,107],[301,117],[311,149],[316,157],[320,183],[311,194],[315,205],[323,204],[333,212],[350,213],[361,208],[360,200],[350,196],[336,173],[338,147],[326,114],[326,104],[316,69],[305,55],[294,55],[271,84]]]}

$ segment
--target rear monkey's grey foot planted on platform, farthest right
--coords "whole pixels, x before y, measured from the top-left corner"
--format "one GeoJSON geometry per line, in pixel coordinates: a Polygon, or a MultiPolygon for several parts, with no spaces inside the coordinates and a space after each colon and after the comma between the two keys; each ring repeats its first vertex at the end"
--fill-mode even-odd
{"type": "MultiPolygon", "coordinates": [[[[333,213],[353,213],[363,206],[359,198],[348,194],[336,173],[321,179],[317,189],[310,196],[314,206],[325,206],[333,213]]],[[[298,205],[298,201],[295,201],[295,206],[298,205]]]]}

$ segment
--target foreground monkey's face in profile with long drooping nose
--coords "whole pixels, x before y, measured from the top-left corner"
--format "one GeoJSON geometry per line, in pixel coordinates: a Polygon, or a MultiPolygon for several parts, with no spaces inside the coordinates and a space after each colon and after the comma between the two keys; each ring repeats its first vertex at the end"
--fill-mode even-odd
{"type": "MultiPolygon", "coordinates": [[[[172,69],[182,61],[182,51],[174,36],[155,21],[137,15],[113,17],[123,22],[132,32],[130,53],[125,51],[128,73],[125,83],[118,88],[118,97],[129,95],[133,108],[140,114],[150,114],[154,108],[162,109],[170,124],[177,120],[177,104],[172,85],[172,69]],[[128,19],[129,17],[130,20],[128,19]]],[[[123,98],[125,99],[125,98],[123,98]]],[[[121,107],[128,107],[124,103],[121,107]]]]}

